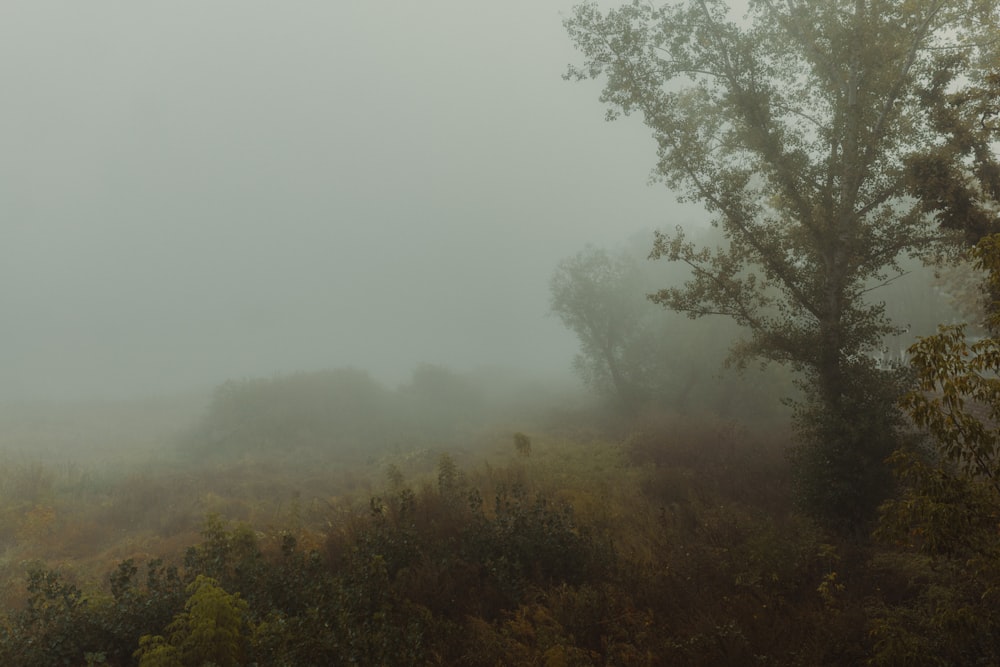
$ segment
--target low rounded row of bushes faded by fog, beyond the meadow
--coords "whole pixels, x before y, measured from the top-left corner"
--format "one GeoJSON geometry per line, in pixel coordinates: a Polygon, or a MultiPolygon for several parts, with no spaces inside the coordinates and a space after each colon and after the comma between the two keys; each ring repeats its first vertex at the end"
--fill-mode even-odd
{"type": "Polygon", "coordinates": [[[395,389],[354,368],[231,380],[215,390],[183,447],[225,458],[467,443],[512,410],[542,414],[566,398],[547,391],[499,371],[459,374],[430,364],[395,389]]]}

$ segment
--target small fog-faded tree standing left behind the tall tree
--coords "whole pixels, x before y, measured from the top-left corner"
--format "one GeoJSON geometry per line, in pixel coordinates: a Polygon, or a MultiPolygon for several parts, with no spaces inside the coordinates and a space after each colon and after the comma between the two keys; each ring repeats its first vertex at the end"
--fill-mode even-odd
{"type": "Polygon", "coordinates": [[[580,341],[574,365],[584,382],[625,409],[650,400],[662,379],[663,331],[638,262],[588,247],[552,276],[551,309],[580,341]]]}

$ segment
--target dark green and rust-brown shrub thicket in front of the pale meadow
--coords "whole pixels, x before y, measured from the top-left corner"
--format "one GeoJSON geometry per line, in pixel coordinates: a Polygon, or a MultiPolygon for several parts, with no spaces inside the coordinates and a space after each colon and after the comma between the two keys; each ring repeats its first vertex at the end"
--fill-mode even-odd
{"type": "Polygon", "coordinates": [[[315,523],[209,516],[100,578],[35,562],[0,664],[858,664],[866,556],[789,509],[781,445],[749,438],[508,438],[502,465],[397,466],[315,523]]]}

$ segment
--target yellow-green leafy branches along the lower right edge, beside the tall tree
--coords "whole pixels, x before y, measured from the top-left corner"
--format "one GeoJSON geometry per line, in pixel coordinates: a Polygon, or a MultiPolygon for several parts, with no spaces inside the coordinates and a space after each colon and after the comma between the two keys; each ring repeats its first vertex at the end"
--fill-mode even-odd
{"type": "MultiPolygon", "coordinates": [[[[996,237],[976,248],[1000,281],[996,237]]],[[[995,328],[998,314],[990,313],[995,328]]],[[[893,455],[901,493],[882,508],[885,570],[906,572],[872,613],[873,664],[1000,661],[1000,345],[941,327],[910,348],[918,386],[903,400],[933,439],[893,455]]],[[[898,575],[896,575],[898,576],[898,575]]]]}

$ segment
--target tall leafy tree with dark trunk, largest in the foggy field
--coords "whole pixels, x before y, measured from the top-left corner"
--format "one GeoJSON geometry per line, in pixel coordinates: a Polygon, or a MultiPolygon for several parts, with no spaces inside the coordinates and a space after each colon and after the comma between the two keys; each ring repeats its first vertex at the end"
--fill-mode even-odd
{"type": "Polygon", "coordinates": [[[566,20],[585,57],[569,76],[605,79],[609,118],[642,116],[656,176],[724,232],[714,249],[659,234],[652,256],[692,277],[653,298],[731,317],[748,331],[739,358],[802,372],[803,499],[829,518],[865,518],[885,481],[898,414],[867,353],[894,325],[871,291],[899,258],[940,247],[914,196],[917,156],[953,140],[928,91],[983,79],[997,13],[995,0],[751,0],[736,21],[721,0],[635,0],[566,20]]]}

